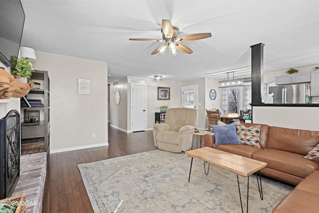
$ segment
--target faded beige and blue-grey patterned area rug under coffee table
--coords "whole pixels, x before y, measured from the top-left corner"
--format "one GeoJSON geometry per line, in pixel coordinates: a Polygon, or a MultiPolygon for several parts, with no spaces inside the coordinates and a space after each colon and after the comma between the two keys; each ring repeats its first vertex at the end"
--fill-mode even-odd
{"type": "MultiPolygon", "coordinates": [[[[78,165],[95,213],[240,213],[236,175],[185,153],[161,150],[78,165]],[[207,167],[206,167],[207,169],[207,167]]],[[[247,178],[239,177],[246,212],[247,178]]],[[[293,187],[262,177],[249,179],[249,212],[271,213],[293,187]]]]}

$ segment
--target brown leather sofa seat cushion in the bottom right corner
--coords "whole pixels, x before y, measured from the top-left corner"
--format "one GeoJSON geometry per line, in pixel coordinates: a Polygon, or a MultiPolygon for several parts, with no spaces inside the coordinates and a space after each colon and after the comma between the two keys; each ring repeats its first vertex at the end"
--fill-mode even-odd
{"type": "Polygon", "coordinates": [[[273,210],[273,213],[317,212],[319,195],[302,190],[293,190],[273,210]]]}

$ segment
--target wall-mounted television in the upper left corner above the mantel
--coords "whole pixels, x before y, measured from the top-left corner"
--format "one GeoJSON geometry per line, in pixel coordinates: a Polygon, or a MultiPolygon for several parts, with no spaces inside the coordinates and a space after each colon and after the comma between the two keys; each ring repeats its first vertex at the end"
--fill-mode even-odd
{"type": "Polygon", "coordinates": [[[0,60],[7,66],[18,56],[25,14],[20,0],[0,0],[0,60]]]}

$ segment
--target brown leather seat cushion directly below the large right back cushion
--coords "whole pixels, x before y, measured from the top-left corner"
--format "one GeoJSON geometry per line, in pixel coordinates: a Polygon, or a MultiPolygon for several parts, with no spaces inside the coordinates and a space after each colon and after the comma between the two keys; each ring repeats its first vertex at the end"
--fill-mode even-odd
{"type": "Polygon", "coordinates": [[[267,167],[306,178],[314,170],[319,169],[319,163],[304,158],[303,155],[275,149],[263,149],[252,154],[252,159],[267,163],[267,167]]]}

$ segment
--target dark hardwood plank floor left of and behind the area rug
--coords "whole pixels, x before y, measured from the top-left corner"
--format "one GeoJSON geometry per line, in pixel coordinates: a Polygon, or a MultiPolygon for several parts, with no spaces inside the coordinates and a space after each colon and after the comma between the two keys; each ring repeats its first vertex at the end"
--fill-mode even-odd
{"type": "Polygon", "coordinates": [[[108,147],[50,155],[42,213],[93,213],[78,164],[158,149],[154,146],[153,131],[127,134],[112,127],[108,131],[108,147]]]}

